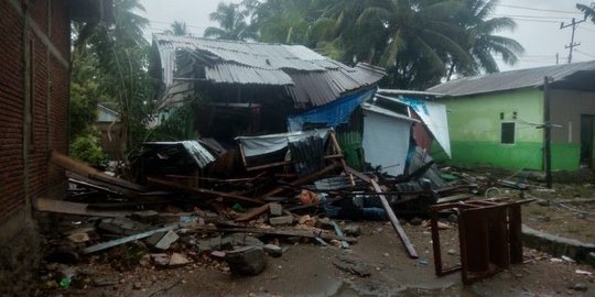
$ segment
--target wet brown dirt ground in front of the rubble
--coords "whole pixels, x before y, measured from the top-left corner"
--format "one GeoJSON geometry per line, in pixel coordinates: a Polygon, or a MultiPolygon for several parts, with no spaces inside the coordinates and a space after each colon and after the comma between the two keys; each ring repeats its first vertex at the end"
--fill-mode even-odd
{"type": "MultiPolygon", "coordinates": [[[[407,255],[392,227],[365,222],[358,243],[350,249],[316,243],[280,242],[289,250],[269,257],[263,273],[253,277],[232,276],[225,263],[204,258],[184,267],[159,270],[150,264],[117,270],[105,257],[84,258],[77,266],[77,282],[56,288],[51,273],[42,272],[39,296],[593,296],[593,273],[580,264],[551,262],[550,256],[526,249],[527,264],[470,286],[461,274],[436,277],[429,228],[407,224],[405,231],[420,258],[407,255]],[[333,261],[346,254],[370,275],[360,277],[337,268],[333,261]],[[572,287],[586,290],[575,290],[572,287]]],[[[456,227],[441,232],[446,265],[458,262],[456,227]],[[452,253],[452,255],[450,254],[452,253]]],[[[51,264],[47,264],[51,266],[51,264]]]]}

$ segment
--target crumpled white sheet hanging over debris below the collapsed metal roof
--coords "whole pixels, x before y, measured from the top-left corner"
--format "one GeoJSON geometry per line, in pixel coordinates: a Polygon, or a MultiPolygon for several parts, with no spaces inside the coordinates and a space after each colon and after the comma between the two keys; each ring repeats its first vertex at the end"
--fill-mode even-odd
{"type": "Polygon", "coordinates": [[[281,151],[288,147],[290,142],[310,136],[318,136],[326,140],[329,131],[329,129],[309,130],[262,136],[239,136],[236,140],[241,143],[244,155],[251,157],[281,151]]]}

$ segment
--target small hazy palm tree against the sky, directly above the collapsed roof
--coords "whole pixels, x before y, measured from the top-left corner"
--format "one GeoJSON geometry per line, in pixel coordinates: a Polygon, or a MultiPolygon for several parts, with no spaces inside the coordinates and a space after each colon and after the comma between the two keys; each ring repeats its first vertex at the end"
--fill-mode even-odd
{"type": "Polygon", "coordinates": [[[209,14],[209,19],[219,23],[219,26],[207,28],[204,36],[232,41],[255,38],[256,34],[246,22],[247,16],[248,11],[241,9],[239,4],[225,4],[221,2],[217,10],[209,14]]]}

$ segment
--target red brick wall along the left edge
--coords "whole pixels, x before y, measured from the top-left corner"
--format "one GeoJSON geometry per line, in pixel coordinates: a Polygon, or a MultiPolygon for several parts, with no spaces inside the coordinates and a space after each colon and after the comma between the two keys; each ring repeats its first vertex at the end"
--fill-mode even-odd
{"type": "Polygon", "coordinates": [[[23,10],[14,7],[19,2],[0,0],[0,222],[24,207],[26,199],[60,197],[66,186],[64,172],[48,163],[47,153],[50,150],[66,153],[68,148],[69,72],[68,65],[55,56],[56,51],[50,51],[45,44],[48,40],[62,61],[69,61],[66,0],[29,1],[29,13],[35,24],[29,29],[31,53],[26,57],[23,10]],[[31,30],[33,26],[45,36],[31,30]],[[31,64],[29,76],[25,58],[31,64]],[[25,110],[25,79],[31,79],[29,110],[25,110]],[[25,162],[26,112],[32,116],[32,143],[26,148],[25,162]]]}

